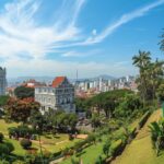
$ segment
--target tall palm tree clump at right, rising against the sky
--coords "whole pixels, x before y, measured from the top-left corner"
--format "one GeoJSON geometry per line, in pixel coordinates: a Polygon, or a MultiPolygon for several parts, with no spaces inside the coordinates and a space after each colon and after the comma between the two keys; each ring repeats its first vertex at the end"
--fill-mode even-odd
{"type": "Polygon", "coordinates": [[[157,59],[156,61],[152,61],[149,51],[139,51],[139,55],[134,56],[132,60],[133,65],[139,68],[137,83],[141,98],[143,102],[154,101],[156,98],[156,91],[163,79],[164,62],[157,59]]]}

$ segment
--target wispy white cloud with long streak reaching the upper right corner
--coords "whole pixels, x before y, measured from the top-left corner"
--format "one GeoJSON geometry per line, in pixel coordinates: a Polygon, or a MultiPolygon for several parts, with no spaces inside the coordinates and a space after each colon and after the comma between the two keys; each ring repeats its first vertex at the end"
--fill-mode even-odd
{"type": "MultiPolygon", "coordinates": [[[[49,26],[40,25],[35,19],[35,15],[40,10],[42,1],[14,0],[7,3],[0,12],[1,58],[17,58],[22,55],[26,55],[30,58],[44,58],[48,52],[55,52],[61,48],[101,43],[124,24],[143,16],[152,9],[164,4],[164,0],[156,0],[121,15],[99,34],[94,28],[92,36],[84,38],[82,30],[77,27],[75,23],[85,2],[86,0],[65,0],[62,8],[58,11],[58,13],[62,14],[49,26]]],[[[63,56],[75,56],[75,54],[78,52],[70,50],[70,52],[63,52],[63,56]]]]}

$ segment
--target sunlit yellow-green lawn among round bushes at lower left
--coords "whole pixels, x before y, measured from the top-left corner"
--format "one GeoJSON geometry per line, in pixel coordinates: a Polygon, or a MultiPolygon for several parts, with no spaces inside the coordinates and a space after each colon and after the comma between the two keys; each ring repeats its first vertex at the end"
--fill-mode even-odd
{"type": "MultiPolygon", "coordinates": [[[[4,134],[7,141],[13,143],[15,148],[13,153],[16,155],[25,155],[26,151],[22,149],[22,147],[20,145],[20,141],[8,138],[8,128],[17,127],[17,126],[19,124],[16,122],[9,124],[9,122],[5,122],[4,119],[0,119],[0,132],[4,134]]],[[[79,141],[79,139],[70,141],[68,134],[65,134],[65,133],[56,134],[55,137],[52,134],[45,134],[45,136],[42,136],[40,139],[43,141],[42,143],[43,150],[46,150],[52,153],[63,150],[67,147],[71,147],[74,144],[74,142],[79,141]]],[[[34,141],[32,148],[39,149],[38,141],[34,141]]]]}

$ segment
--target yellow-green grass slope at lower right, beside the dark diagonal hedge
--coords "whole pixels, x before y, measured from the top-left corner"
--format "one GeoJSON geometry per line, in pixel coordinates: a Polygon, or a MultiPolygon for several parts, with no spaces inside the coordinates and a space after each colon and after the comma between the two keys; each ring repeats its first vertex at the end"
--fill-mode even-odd
{"type": "Polygon", "coordinates": [[[156,156],[155,150],[152,149],[151,138],[148,125],[160,118],[161,113],[156,110],[149,118],[145,126],[139,131],[137,138],[125,149],[112,164],[163,164],[164,152],[156,156]]]}

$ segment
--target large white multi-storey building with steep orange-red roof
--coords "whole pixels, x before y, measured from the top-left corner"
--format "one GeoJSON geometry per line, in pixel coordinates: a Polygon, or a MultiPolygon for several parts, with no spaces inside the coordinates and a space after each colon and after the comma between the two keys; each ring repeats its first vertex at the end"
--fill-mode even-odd
{"type": "Polygon", "coordinates": [[[66,77],[57,77],[50,86],[36,86],[35,101],[40,103],[43,113],[50,108],[75,112],[74,86],[66,77]]]}

